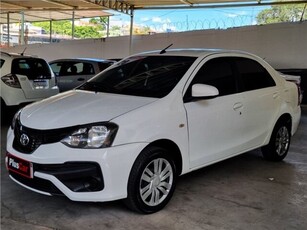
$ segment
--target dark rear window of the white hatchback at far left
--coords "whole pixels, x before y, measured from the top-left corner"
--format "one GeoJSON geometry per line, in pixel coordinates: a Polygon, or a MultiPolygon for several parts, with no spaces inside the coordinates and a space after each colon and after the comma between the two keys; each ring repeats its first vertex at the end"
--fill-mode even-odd
{"type": "Polygon", "coordinates": [[[51,78],[47,62],[39,58],[15,58],[12,61],[11,72],[27,76],[29,80],[51,78]]]}

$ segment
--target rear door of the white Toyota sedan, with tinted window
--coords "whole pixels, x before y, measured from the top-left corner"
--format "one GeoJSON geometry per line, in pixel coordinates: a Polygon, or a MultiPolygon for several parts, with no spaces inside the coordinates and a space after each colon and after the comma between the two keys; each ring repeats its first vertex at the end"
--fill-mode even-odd
{"type": "Polygon", "coordinates": [[[280,108],[280,95],[270,73],[258,61],[238,57],[235,66],[239,74],[244,103],[245,149],[263,145],[274,126],[280,108]]]}

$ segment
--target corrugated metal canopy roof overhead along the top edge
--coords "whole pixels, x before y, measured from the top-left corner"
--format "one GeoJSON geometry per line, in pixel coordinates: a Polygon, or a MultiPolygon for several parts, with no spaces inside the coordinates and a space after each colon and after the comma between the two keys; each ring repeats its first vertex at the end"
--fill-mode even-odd
{"type": "Polygon", "coordinates": [[[255,6],[307,3],[307,0],[1,0],[0,24],[20,22],[20,12],[25,22],[51,21],[89,17],[105,17],[115,10],[133,16],[140,9],[215,8],[225,6],[255,6]],[[74,12],[74,13],[73,13],[74,12]]]}

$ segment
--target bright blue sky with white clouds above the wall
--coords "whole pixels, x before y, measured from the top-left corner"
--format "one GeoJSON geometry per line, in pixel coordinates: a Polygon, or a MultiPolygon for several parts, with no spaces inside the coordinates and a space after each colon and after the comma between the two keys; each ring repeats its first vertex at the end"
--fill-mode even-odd
{"type": "MultiPolygon", "coordinates": [[[[196,29],[226,29],[256,24],[256,16],[267,6],[215,9],[135,10],[134,26],[148,26],[157,32],[196,29]]],[[[114,13],[112,25],[129,25],[130,16],[114,13]]]]}

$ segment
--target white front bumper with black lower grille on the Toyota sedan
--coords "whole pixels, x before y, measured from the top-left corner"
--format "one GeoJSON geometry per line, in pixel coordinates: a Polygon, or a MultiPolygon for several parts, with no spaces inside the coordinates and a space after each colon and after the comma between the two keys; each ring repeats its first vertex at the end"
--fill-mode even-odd
{"type": "Polygon", "coordinates": [[[33,178],[9,171],[15,182],[41,194],[65,195],[75,201],[126,198],[132,165],[146,146],[133,143],[105,149],[74,149],[53,143],[24,154],[12,147],[13,140],[14,133],[9,129],[7,152],[33,164],[33,178]]]}

